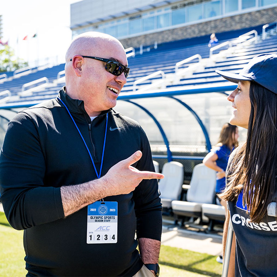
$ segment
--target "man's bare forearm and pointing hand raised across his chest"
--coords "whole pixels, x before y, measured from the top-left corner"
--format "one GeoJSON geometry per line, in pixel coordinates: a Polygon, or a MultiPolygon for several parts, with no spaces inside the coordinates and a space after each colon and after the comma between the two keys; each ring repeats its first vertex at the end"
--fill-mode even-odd
{"type": "Polygon", "coordinates": [[[137,162],[141,156],[142,152],[136,151],[129,158],[111,167],[100,179],[79,185],[62,186],[60,190],[64,215],[71,215],[107,196],[128,194],[134,191],[143,179],[163,178],[163,174],[139,171],[132,167],[131,165],[137,162]]]}

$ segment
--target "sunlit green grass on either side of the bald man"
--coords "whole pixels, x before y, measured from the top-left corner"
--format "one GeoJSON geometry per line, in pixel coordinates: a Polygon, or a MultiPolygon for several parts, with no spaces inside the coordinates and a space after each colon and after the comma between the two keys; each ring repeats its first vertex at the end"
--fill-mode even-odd
{"type": "MultiPolygon", "coordinates": [[[[0,277],[25,276],[23,231],[10,227],[0,212],[0,277]]],[[[216,257],[176,247],[162,245],[160,252],[161,277],[221,276],[222,265],[216,257]]]]}

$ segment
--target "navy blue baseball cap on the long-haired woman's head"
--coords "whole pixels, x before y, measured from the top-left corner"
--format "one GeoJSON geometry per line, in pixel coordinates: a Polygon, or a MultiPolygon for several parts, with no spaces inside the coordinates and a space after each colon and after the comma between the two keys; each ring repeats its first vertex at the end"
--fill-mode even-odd
{"type": "Polygon", "coordinates": [[[233,83],[238,83],[239,81],[255,81],[277,94],[276,54],[260,54],[255,56],[239,74],[221,70],[215,70],[215,72],[233,83]]]}

